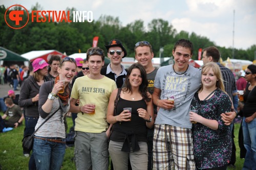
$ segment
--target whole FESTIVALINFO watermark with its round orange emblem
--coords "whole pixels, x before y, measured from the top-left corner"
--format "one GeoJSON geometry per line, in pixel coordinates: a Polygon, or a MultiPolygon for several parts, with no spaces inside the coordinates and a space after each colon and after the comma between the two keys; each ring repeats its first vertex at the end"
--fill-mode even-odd
{"type": "Polygon", "coordinates": [[[33,10],[31,18],[22,5],[12,5],[5,12],[5,22],[12,29],[22,29],[31,22],[92,22],[92,11],[39,11],[33,10]],[[18,10],[17,10],[18,9],[18,10]],[[73,18],[71,15],[73,14],[73,18]]]}

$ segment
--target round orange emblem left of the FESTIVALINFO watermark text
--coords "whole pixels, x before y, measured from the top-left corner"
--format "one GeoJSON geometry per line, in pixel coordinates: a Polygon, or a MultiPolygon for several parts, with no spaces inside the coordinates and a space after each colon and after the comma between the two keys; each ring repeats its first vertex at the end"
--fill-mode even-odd
{"type": "Polygon", "coordinates": [[[21,28],[23,28],[23,27],[25,27],[27,25],[28,21],[29,21],[29,12],[22,5],[12,5],[5,12],[5,22],[12,29],[21,29],[21,28]],[[19,7],[23,8],[24,10],[12,10],[12,11],[9,11],[10,8],[15,7],[15,6],[17,8],[19,8],[19,7]],[[25,15],[24,11],[27,12],[27,15],[25,15]],[[8,15],[9,18],[6,17],[7,14],[9,14],[8,15]],[[23,20],[26,21],[26,22],[22,23],[23,20]]]}

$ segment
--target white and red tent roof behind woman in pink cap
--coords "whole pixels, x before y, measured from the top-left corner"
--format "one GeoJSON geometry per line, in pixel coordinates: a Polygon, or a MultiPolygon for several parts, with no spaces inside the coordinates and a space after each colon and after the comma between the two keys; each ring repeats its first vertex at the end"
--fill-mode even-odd
{"type": "Polygon", "coordinates": [[[42,59],[45,59],[46,62],[48,62],[53,55],[57,55],[60,58],[67,57],[65,54],[60,53],[57,50],[31,51],[31,52],[22,54],[22,57],[28,59],[29,61],[34,61],[37,58],[42,58],[42,59]]]}

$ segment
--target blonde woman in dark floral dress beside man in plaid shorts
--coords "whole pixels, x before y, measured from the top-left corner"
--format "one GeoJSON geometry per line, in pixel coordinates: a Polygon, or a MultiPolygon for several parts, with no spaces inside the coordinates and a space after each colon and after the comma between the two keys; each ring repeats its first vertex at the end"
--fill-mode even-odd
{"type": "Polygon", "coordinates": [[[226,170],[232,142],[221,113],[230,112],[232,103],[224,92],[220,67],[209,62],[202,68],[202,86],[194,95],[189,112],[193,124],[194,155],[197,169],[226,170]]]}

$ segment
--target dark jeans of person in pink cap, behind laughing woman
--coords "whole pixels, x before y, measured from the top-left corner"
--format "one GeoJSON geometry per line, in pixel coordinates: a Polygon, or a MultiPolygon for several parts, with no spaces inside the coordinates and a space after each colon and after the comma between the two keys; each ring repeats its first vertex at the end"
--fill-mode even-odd
{"type": "MultiPolygon", "coordinates": [[[[24,136],[26,135],[32,135],[35,131],[35,126],[37,124],[37,117],[30,117],[26,116],[25,118],[25,129],[24,129],[24,136]]],[[[23,150],[23,153],[29,154],[29,151],[23,150]]],[[[34,153],[32,151],[32,154],[29,159],[29,170],[36,169],[35,165],[35,159],[34,159],[34,153]]]]}

